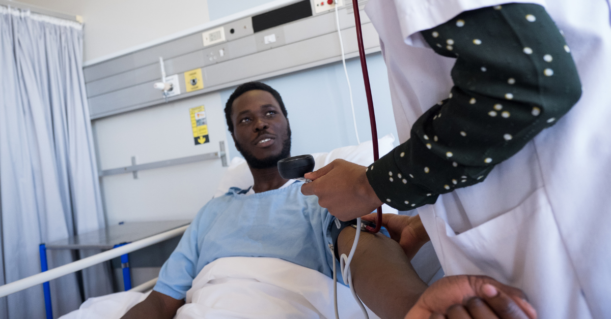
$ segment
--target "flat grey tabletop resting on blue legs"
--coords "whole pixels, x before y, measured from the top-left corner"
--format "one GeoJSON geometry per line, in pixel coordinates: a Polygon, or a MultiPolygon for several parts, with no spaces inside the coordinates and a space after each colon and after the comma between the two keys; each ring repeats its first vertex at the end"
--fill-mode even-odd
{"type": "Polygon", "coordinates": [[[191,220],[137,221],[46,243],[46,249],[112,249],[191,223],[191,220]]]}

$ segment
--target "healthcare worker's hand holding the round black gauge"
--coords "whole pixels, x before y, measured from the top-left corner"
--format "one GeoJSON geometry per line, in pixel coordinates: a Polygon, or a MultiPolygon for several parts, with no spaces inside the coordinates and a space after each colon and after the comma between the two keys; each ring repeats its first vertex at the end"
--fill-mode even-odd
{"type": "Polygon", "coordinates": [[[369,185],[365,169],[336,159],[318,171],[305,174],[312,182],[301,186],[303,195],[318,196],[318,204],[342,221],[367,215],[382,205],[369,185]]]}

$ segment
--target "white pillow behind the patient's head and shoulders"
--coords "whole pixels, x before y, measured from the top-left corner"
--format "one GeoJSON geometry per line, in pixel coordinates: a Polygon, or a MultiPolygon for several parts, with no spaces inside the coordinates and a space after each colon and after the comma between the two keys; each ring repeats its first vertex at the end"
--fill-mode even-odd
{"type": "MultiPolygon", "coordinates": [[[[395,142],[395,137],[392,134],[388,134],[378,139],[378,151],[379,156],[382,157],[388,152],[392,151],[395,146],[392,143],[395,142]]],[[[344,146],[343,148],[336,148],[328,153],[313,153],[314,170],[318,170],[324,167],[328,163],[331,163],[335,159],[343,159],[348,162],[357,163],[359,165],[367,166],[373,163],[373,143],[371,141],[362,142],[359,145],[344,146]]],[[[224,195],[229,191],[230,187],[238,187],[240,189],[246,189],[254,184],[251,170],[248,168],[246,160],[240,157],[233,157],[229,168],[225,171],[225,174],[219,182],[219,187],[214,193],[214,197],[224,195]]],[[[384,213],[397,213],[396,209],[384,204],[382,207],[384,213]]]]}

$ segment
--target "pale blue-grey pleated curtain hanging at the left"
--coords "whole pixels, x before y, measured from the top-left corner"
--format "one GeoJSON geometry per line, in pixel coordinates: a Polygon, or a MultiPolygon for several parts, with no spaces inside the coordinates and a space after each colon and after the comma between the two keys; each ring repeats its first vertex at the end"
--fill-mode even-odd
{"type": "MultiPolygon", "coordinates": [[[[0,284],[40,272],[38,245],[104,227],[82,75],[82,26],[0,6],[0,284]]],[[[49,268],[73,261],[49,251],[49,268]]],[[[111,292],[103,265],[87,296],[111,292]],[[102,279],[102,280],[101,280],[102,279]]],[[[54,317],[81,303],[51,281],[54,317]]],[[[44,318],[42,285],[0,299],[0,318],[44,318]]]]}

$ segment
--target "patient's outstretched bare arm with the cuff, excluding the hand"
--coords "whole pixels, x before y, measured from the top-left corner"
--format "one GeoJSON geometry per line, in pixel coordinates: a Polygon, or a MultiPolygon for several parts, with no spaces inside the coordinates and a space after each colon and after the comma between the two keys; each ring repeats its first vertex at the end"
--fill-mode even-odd
{"type": "MultiPolygon", "coordinates": [[[[337,238],[340,256],[350,253],[355,234],[352,227],[342,230],[337,238]]],[[[382,234],[360,233],[350,270],[360,299],[385,319],[403,318],[427,288],[403,248],[382,234]]]]}

